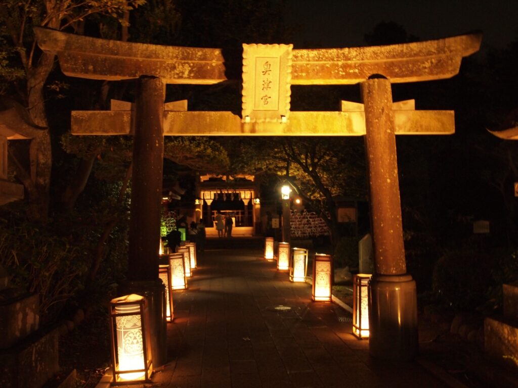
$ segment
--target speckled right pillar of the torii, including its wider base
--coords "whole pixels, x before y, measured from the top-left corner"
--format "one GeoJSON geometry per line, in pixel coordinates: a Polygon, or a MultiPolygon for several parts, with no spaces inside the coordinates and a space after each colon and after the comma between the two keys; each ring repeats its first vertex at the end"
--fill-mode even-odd
{"type": "Polygon", "coordinates": [[[408,275],[401,224],[391,83],[361,84],[369,171],[375,274],[369,283],[369,352],[386,360],[412,360],[418,353],[415,281],[408,275]]]}

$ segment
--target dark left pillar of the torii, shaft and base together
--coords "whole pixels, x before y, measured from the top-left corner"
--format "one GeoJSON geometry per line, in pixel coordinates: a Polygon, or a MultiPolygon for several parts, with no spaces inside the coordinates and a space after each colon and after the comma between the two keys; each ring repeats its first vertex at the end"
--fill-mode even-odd
{"type": "Polygon", "coordinates": [[[128,252],[128,281],[120,294],[144,295],[149,303],[153,367],[167,362],[165,287],[159,279],[160,208],[164,163],[165,84],[138,79],[133,138],[133,171],[128,252]]]}

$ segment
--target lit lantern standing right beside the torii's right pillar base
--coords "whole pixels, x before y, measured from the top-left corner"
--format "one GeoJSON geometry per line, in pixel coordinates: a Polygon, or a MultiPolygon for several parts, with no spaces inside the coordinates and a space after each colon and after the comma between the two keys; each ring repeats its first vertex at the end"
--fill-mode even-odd
{"type": "Polygon", "coordinates": [[[369,280],[372,275],[353,277],[353,334],[359,339],[369,337],[369,280]]]}

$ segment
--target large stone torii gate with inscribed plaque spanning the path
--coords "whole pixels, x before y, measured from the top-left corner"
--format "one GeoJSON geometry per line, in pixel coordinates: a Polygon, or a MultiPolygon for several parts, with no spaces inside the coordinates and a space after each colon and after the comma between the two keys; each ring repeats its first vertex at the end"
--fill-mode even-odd
{"type": "Polygon", "coordinates": [[[383,359],[409,360],[416,355],[416,290],[406,270],[395,134],[454,133],[454,113],[415,111],[411,101],[393,103],[391,83],[454,76],[462,58],[479,50],[481,34],[343,49],[243,45],[243,110],[239,116],[167,110],[164,105],[166,83],[227,81],[219,49],[128,43],[42,28],[35,33],[40,48],[57,54],[68,76],[139,80],[134,112],[73,112],[72,116],[76,135],[133,133],[135,137],[128,260],[130,278],[136,281],[156,281],[158,277],[164,135],[365,136],[376,268],[370,283],[369,350],[383,359]],[[337,112],[290,112],[291,84],[357,83],[361,84],[363,104],[343,102],[337,112]]]}

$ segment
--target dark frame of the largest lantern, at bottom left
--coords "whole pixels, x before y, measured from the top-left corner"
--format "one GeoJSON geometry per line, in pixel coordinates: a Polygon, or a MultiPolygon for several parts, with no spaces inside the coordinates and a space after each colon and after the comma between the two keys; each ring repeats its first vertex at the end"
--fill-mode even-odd
{"type": "Polygon", "coordinates": [[[130,385],[130,384],[142,384],[142,383],[151,383],[151,375],[153,373],[153,361],[151,359],[151,336],[149,333],[149,325],[148,325],[148,306],[146,298],[137,295],[130,294],[117,297],[110,301],[110,339],[111,339],[111,368],[113,371],[113,380],[110,382],[110,385],[130,385]],[[117,312],[116,307],[121,306],[130,306],[136,305],[138,306],[138,312],[117,312]],[[140,332],[142,336],[142,359],[143,359],[143,368],[141,369],[131,369],[131,370],[123,370],[120,371],[120,358],[121,355],[118,352],[118,336],[116,333],[117,327],[117,318],[118,317],[127,317],[127,316],[136,316],[140,315],[140,332]],[[129,373],[137,373],[142,372],[142,379],[128,379],[123,380],[120,375],[129,374],[129,373]]]}

